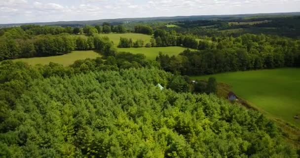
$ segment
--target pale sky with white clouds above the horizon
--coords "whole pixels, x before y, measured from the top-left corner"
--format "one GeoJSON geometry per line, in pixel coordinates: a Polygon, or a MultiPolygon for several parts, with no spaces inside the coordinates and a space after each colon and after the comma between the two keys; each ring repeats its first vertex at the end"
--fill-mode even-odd
{"type": "Polygon", "coordinates": [[[300,0],[0,0],[0,24],[300,11],[300,0]]]}

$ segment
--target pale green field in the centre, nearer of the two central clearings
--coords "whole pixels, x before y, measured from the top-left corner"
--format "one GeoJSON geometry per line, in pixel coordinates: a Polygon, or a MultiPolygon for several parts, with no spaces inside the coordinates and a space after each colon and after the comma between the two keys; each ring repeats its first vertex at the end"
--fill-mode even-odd
{"type": "Polygon", "coordinates": [[[178,55],[179,53],[183,52],[185,49],[184,47],[179,46],[169,46],[169,47],[141,47],[141,48],[118,48],[118,51],[125,51],[130,52],[133,54],[145,54],[147,59],[155,60],[156,56],[158,56],[159,52],[162,52],[163,54],[169,54],[169,56],[172,55],[178,55]]]}

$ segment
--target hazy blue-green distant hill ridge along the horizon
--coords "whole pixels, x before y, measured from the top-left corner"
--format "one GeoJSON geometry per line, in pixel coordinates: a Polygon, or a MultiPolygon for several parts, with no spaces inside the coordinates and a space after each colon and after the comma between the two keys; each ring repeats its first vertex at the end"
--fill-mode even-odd
{"type": "Polygon", "coordinates": [[[58,26],[82,26],[96,25],[104,22],[110,22],[112,25],[121,23],[136,23],[149,21],[184,21],[184,20],[236,20],[249,18],[271,18],[280,16],[300,15],[300,12],[290,13],[258,13],[258,14],[236,14],[236,15],[195,15],[195,16],[173,16],[173,17],[147,17],[147,18],[119,18],[119,19],[101,19],[89,21],[58,21],[58,22],[43,22],[43,23],[16,23],[16,24],[0,24],[0,28],[14,27],[24,24],[36,25],[58,25],[58,26]]]}

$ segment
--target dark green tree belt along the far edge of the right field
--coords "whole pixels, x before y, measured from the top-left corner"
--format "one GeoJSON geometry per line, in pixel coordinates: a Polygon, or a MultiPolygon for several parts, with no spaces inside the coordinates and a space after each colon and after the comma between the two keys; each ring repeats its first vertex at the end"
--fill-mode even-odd
{"type": "Polygon", "coordinates": [[[210,38],[200,40],[198,49],[171,57],[159,54],[156,60],[164,70],[182,75],[300,67],[300,41],[288,38],[252,34],[210,38]]]}

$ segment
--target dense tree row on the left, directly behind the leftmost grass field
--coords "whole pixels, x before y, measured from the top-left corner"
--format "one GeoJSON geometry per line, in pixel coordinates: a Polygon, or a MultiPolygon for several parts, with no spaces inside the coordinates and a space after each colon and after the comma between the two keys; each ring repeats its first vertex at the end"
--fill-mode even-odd
{"type": "Polygon", "coordinates": [[[40,35],[32,39],[0,38],[0,61],[36,56],[53,56],[70,53],[73,50],[97,49],[105,55],[114,54],[112,41],[99,36],[73,37],[64,35],[40,35]]]}

